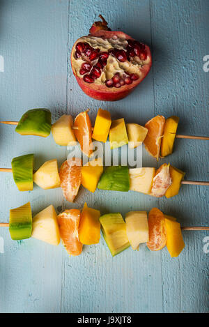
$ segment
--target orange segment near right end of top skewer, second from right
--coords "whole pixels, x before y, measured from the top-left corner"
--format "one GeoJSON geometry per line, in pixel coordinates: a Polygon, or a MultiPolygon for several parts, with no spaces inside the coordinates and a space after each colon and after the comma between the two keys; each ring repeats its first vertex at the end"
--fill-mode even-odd
{"type": "Polygon", "coordinates": [[[160,155],[160,144],[164,130],[164,116],[156,116],[145,124],[148,133],[144,140],[144,145],[148,153],[153,155],[157,160],[160,155]]]}

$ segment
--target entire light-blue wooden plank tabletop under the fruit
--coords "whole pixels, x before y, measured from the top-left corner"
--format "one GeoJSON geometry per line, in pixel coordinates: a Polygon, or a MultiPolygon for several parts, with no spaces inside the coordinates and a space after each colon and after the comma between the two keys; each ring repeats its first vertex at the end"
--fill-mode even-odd
{"type": "MultiPolygon", "coordinates": [[[[18,120],[27,109],[47,107],[53,121],[61,114],[98,107],[115,118],[146,123],[163,114],[180,116],[179,134],[208,135],[209,73],[203,57],[209,54],[207,0],[1,0],[0,72],[1,120],[18,120]],[[119,102],[88,98],[75,82],[70,50],[88,33],[99,14],[112,30],[121,29],[150,45],[153,68],[131,96],[119,102]]],[[[17,155],[35,153],[42,162],[65,160],[68,151],[47,139],[22,137],[12,126],[0,126],[0,166],[10,167],[17,155]]],[[[159,167],[146,151],[143,165],[159,167]]],[[[169,161],[187,179],[208,179],[208,142],[177,139],[169,161]]],[[[149,211],[157,206],[182,225],[208,225],[208,188],[184,185],[178,196],[156,199],[128,192],[79,192],[71,205],[61,189],[18,192],[11,174],[1,173],[0,220],[10,208],[31,201],[33,213],[49,204],[57,211],[89,206],[102,213],[149,211]],[[104,197],[105,195],[105,197],[104,197]]],[[[139,252],[130,248],[112,258],[103,238],[70,257],[62,245],[35,239],[11,241],[0,229],[0,312],[208,312],[208,255],[203,252],[206,232],[185,231],[185,250],[171,259],[167,249],[139,252]]]]}

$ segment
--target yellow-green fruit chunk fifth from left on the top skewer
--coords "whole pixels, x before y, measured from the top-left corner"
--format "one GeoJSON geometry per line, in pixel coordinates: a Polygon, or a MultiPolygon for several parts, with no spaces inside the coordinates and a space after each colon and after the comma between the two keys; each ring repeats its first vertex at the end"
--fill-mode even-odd
{"type": "Polygon", "coordinates": [[[119,148],[120,146],[128,144],[124,118],[116,119],[115,121],[111,122],[109,142],[110,149],[119,148]]]}

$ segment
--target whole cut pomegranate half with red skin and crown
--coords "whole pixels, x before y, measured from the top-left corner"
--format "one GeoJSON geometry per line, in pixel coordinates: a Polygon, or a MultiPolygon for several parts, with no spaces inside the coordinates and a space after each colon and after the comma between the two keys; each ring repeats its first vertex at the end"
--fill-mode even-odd
{"type": "Polygon", "coordinates": [[[95,22],[88,36],[72,47],[72,71],[87,96],[115,101],[125,98],[148,74],[152,65],[150,48],[121,31],[111,31],[95,22]]]}

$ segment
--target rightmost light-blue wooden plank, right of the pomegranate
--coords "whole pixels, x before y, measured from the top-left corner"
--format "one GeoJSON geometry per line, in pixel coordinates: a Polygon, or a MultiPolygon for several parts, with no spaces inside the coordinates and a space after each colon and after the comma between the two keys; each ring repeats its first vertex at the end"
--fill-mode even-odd
{"type": "MultiPolygon", "coordinates": [[[[155,114],[180,116],[180,134],[208,135],[208,1],[151,1],[155,114]],[[207,41],[206,41],[207,40],[207,41]]],[[[208,180],[208,142],[176,139],[164,160],[186,172],[186,178],[208,180]]],[[[162,163],[162,162],[160,162],[162,163]]],[[[183,185],[160,208],[183,225],[208,224],[208,188],[183,185]]],[[[164,312],[207,312],[206,232],[184,231],[186,247],[178,259],[162,251],[164,312]]]]}

